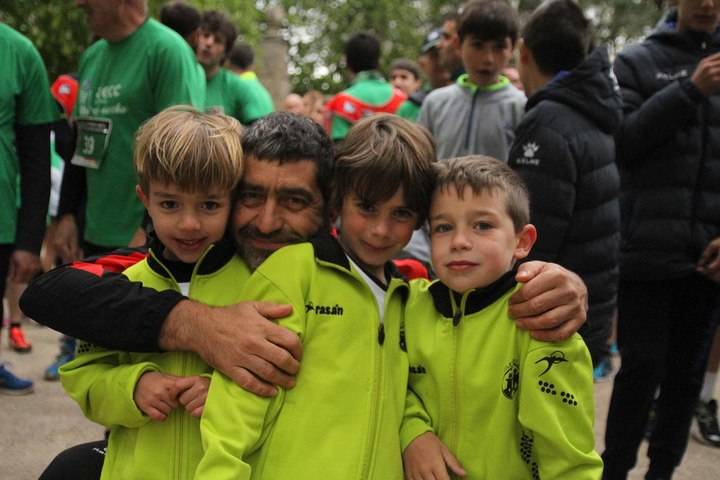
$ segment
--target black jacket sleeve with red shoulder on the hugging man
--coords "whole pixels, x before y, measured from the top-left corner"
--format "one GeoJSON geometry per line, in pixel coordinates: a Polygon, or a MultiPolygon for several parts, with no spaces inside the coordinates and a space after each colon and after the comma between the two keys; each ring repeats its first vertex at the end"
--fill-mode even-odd
{"type": "Polygon", "coordinates": [[[30,283],[20,308],[43,325],[96,345],[160,351],[163,322],[185,297],[143,287],[118,273],[144,257],[125,250],[58,267],[30,283]]]}

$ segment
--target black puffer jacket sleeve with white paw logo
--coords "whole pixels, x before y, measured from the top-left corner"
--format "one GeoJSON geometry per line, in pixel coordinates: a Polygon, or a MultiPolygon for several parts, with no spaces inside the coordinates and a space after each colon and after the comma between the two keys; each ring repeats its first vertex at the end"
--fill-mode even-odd
{"type": "Polygon", "coordinates": [[[557,261],[575,211],[577,153],[566,138],[536,122],[523,130],[509,165],[530,191],[530,221],[538,231],[530,259],[557,261]]]}

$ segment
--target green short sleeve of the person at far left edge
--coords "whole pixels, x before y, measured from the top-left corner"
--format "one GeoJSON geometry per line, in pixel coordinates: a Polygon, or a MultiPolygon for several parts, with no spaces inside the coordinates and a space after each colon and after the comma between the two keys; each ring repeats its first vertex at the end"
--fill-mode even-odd
{"type": "Polygon", "coordinates": [[[18,97],[15,122],[18,125],[40,125],[58,119],[57,108],[50,96],[47,72],[40,53],[29,45],[23,65],[23,89],[18,97]]]}

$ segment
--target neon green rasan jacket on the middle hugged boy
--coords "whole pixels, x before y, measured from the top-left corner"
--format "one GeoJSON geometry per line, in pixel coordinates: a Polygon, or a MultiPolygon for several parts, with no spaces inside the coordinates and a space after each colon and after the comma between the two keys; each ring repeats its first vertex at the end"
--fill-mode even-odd
{"type": "Polygon", "coordinates": [[[215,372],[196,478],[402,480],[406,294],[404,281],[391,280],[381,329],[375,297],[335,240],[323,237],[270,256],[244,297],[292,304],[292,315],[280,324],[303,341],[297,384],[261,398],[215,372]]]}

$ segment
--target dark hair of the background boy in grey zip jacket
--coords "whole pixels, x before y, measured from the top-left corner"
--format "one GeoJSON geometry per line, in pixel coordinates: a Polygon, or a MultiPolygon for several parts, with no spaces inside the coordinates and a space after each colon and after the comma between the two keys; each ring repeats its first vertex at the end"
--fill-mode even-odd
{"type": "Polygon", "coordinates": [[[517,12],[506,0],[477,0],[468,3],[458,21],[460,42],[472,36],[481,42],[517,41],[519,23],[517,12]]]}

